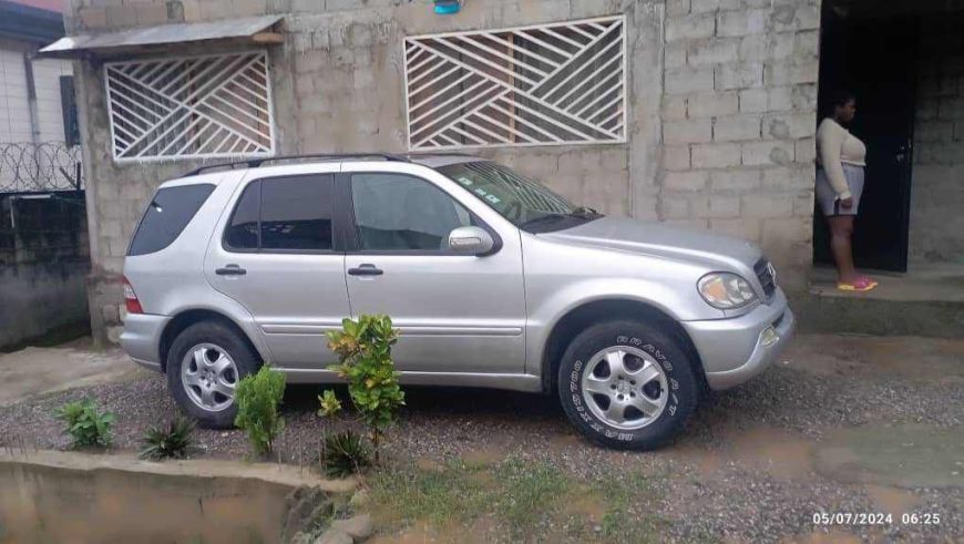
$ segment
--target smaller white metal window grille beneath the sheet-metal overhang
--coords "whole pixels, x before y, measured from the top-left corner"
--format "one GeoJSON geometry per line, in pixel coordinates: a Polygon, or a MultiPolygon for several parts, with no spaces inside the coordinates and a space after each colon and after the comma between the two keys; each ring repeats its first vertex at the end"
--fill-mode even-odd
{"type": "Polygon", "coordinates": [[[274,154],[265,51],[112,62],[104,79],[115,161],[274,154]]]}

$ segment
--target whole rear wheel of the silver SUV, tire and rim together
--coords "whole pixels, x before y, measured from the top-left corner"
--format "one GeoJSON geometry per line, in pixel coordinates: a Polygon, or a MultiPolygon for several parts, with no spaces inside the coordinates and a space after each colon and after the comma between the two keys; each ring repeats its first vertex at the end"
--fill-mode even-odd
{"type": "Polygon", "coordinates": [[[202,321],[184,329],[171,345],[167,388],[201,427],[229,429],[237,415],[235,388],[259,366],[237,332],[219,322],[202,321]]]}

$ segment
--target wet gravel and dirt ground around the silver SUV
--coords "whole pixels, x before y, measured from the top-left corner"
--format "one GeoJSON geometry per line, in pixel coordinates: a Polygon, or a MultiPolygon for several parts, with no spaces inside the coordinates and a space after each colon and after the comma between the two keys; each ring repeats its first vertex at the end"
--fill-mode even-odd
{"type": "MultiPolygon", "coordinates": [[[[0,369],[16,356],[0,357],[0,369]]],[[[398,487],[406,481],[396,479],[389,482],[396,487],[389,489],[413,493],[412,500],[422,501],[424,516],[396,515],[389,505],[378,514],[378,537],[380,542],[491,542],[520,536],[546,542],[964,538],[964,340],[801,336],[782,359],[750,383],[715,394],[675,443],[650,453],[589,444],[573,432],[551,397],[408,389],[408,406],[390,433],[383,474],[413,474],[411,481],[417,483],[422,482],[418,478],[428,475],[431,483],[433,474],[443,475],[465,485],[504,478],[544,481],[546,493],[556,493],[554,504],[562,506],[552,515],[526,510],[531,519],[523,519],[527,532],[522,535],[507,533],[500,517],[517,512],[499,505],[494,513],[455,512],[461,521],[443,523],[431,509],[444,506],[443,512],[452,513],[452,504],[430,501],[425,489],[398,487]],[[451,472],[453,460],[463,472],[451,472]],[[530,471],[535,474],[530,479],[529,469],[520,472],[520,466],[546,469],[530,471]],[[563,485],[554,474],[576,483],[563,485]],[[621,511],[621,516],[591,507],[594,501],[588,499],[595,496],[607,499],[606,507],[621,511]],[[623,499],[615,501],[615,496],[623,499]],[[890,521],[883,517],[869,524],[861,514],[890,514],[890,521]],[[588,536],[570,532],[572,519],[581,519],[588,536]],[[636,523],[644,519],[646,524],[636,523]]],[[[0,382],[0,396],[9,394],[3,392],[7,381],[0,382]]],[[[278,441],[281,461],[317,460],[319,437],[330,424],[316,415],[318,391],[317,387],[289,388],[287,427],[278,441]]],[[[145,427],[176,413],[163,377],[125,377],[0,407],[0,445],[68,448],[51,412],[82,397],[95,398],[119,414],[114,448],[122,451],[136,450],[145,427]]],[[[198,431],[197,444],[201,458],[247,454],[239,431],[198,431]]],[[[386,480],[373,476],[375,482],[379,479],[386,480]]],[[[439,496],[463,504],[458,494],[439,496]]]]}

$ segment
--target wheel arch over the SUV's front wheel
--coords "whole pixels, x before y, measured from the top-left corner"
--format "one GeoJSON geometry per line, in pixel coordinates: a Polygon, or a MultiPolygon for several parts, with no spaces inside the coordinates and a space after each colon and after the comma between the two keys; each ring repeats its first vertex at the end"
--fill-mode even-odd
{"type": "Polygon", "coordinates": [[[552,327],[542,349],[542,387],[552,394],[556,390],[558,366],[570,340],[593,324],[619,318],[636,319],[656,326],[678,339],[686,355],[696,366],[700,388],[706,390],[706,372],[696,346],[686,329],[662,308],[640,300],[603,298],[578,305],[563,315],[552,327]]]}

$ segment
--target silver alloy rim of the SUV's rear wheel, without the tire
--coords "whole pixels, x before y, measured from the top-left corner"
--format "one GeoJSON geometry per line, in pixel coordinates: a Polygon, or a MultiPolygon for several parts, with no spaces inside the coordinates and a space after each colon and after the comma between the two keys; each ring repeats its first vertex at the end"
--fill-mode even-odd
{"type": "Polygon", "coordinates": [[[219,412],[234,402],[237,366],[219,346],[198,343],[187,350],[181,361],[181,382],[198,408],[219,412]]]}

